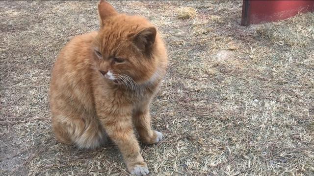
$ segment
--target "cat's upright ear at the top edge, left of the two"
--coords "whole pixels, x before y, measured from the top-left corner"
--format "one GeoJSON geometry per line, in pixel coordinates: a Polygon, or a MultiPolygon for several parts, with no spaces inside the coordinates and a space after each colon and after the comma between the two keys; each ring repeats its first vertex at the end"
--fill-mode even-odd
{"type": "Polygon", "coordinates": [[[104,21],[111,16],[117,15],[118,12],[114,10],[112,5],[110,5],[105,0],[100,0],[98,3],[98,17],[100,26],[104,26],[104,21]]]}

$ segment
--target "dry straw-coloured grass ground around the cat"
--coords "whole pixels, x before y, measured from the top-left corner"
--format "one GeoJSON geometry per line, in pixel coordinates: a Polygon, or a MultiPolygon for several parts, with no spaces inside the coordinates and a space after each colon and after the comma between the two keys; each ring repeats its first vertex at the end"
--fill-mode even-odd
{"type": "MultiPolygon", "coordinates": [[[[151,106],[151,176],[314,175],[314,13],[240,26],[241,1],[112,1],[158,26],[169,69],[151,106]]],[[[112,144],[55,141],[60,49],[99,29],[97,1],[0,2],[0,175],[128,175],[112,144]]]]}

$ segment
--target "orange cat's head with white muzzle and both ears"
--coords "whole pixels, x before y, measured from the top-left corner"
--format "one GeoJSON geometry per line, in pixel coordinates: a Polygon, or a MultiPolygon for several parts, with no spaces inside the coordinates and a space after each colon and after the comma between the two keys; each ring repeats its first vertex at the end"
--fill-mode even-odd
{"type": "Polygon", "coordinates": [[[156,27],[143,17],[118,13],[105,1],[98,4],[98,14],[93,55],[99,74],[116,84],[156,79],[167,60],[156,27]]]}

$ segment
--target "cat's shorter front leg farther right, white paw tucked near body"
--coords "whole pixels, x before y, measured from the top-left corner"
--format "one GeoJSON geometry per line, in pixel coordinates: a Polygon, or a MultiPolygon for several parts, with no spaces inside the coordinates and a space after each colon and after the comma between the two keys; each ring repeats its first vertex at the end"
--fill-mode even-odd
{"type": "Polygon", "coordinates": [[[162,140],[162,133],[151,128],[149,102],[142,102],[133,110],[133,122],[141,140],[146,144],[155,144],[162,140]]]}

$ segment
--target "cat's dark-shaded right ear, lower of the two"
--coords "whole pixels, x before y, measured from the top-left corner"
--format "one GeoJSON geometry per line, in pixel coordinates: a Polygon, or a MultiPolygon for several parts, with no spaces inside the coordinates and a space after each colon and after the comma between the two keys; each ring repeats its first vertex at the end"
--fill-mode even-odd
{"type": "Polygon", "coordinates": [[[155,43],[157,30],[155,27],[148,27],[135,35],[133,43],[143,52],[149,54],[155,43]]]}

